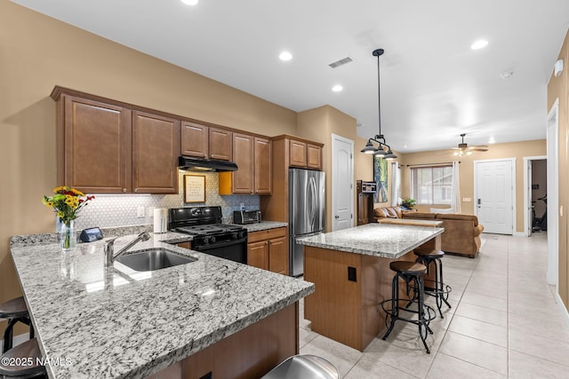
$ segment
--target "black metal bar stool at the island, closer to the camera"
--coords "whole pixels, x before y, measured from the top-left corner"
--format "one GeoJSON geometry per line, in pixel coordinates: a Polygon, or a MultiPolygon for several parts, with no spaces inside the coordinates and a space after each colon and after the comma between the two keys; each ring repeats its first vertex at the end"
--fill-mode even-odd
{"type": "Polygon", "coordinates": [[[427,345],[427,333],[433,334],[433,331],[429,328],[429,323],[437,317],[437,313],[424,303],[423,274],[427,272],[427,267],[417,262],[395,261],[389,264],[389,268],[396,274],[391,283],[391,298],[381,302],[381,308],[388,316],[385,318],[385,325],[388,327],[388,331],[382,339],[385,341],[388,338],[397,320],[411,322],[419,327],[421,341],[427,353],[430,354],[429,346],[427,345]],[[409,296],[410,290],[413,290],[411,298],[399,297],[399,279],[405,280],[407,296],[409,296]],[[405,305],[401,305],[402,303],[405,305]],[[387,308],[389,304],[391,308],[387,308]],[[416,311],[410,308],[412,304],[417,304],[416,311]],[[405,312],[416,313],[417,318],[404,317],[401,312],[404,312],[404,314],[405,312]],[[391,321],[388,326],[389,318],[391,321]]]}

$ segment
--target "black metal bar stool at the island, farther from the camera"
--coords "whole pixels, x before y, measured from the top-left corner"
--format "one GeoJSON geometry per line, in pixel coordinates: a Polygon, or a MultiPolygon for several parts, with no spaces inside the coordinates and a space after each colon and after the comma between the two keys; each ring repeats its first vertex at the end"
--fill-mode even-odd
{"type": "Polygon", "coordinates": [[[445,281],[443,281],[443,262],[441,258],[445,257],[445,251],[418,249],[414,250],[413,253],[417,256],[415,262],[427,266],[428,275],[431,270],[435,272],[435,280],[424,280],[425,294],[437,298],[438,313],[441,315],[441,319],[444,319],[445,316],[443,316],[443,312],[441,312],[441,306],[445,303],[449,308],[452,308],[451,304],[448,303],[448,294],[453,290],[451,286],[446,285],[445,281]]]}

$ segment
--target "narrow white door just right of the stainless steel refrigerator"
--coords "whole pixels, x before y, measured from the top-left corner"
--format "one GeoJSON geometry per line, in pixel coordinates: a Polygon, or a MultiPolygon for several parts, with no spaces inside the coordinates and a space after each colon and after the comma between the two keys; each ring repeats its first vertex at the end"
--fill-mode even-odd
{"type": "Polygon", "coordinates": [[[354,141],[332,135],[332,230],[354,226],[354,141]]]}

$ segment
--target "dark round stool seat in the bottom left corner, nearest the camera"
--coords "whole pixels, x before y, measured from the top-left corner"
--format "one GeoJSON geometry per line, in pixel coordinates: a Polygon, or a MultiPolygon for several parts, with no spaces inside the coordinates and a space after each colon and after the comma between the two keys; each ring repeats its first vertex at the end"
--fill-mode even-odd
{"type": "Polygon", "coordinates": [[[0,376],[2,378],[38,378],[47,377],[45,367],[41,364],[42,353],[36,338],[32,338],[10,351],[0,359],[0,376]]]}

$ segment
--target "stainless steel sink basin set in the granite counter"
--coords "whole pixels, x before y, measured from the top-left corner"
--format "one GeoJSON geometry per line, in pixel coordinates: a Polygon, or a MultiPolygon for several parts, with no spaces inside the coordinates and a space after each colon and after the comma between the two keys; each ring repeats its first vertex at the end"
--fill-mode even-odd
{"type": "Polygon", "coordinates": [[[134,271],[155,271],[175,265],[186,265],[196,260],[196,257],[182,256],[175,251],[163,248],[135,250],[116,258],[117,262],[134,271]]]}

